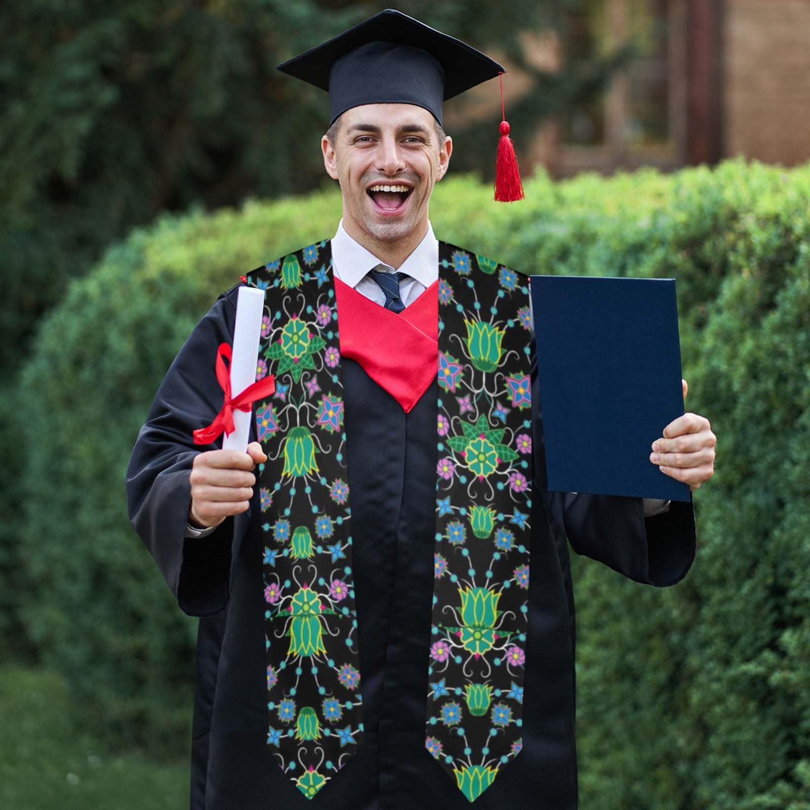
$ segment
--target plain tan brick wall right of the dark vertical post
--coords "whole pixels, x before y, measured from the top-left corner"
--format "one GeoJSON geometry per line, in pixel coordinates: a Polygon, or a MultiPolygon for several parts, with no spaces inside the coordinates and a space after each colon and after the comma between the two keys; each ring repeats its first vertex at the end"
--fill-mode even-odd
{"type": "Polygon", "coordinates": [[[723,152],[810,160],[810,0],[726,0],[723,152]]]}

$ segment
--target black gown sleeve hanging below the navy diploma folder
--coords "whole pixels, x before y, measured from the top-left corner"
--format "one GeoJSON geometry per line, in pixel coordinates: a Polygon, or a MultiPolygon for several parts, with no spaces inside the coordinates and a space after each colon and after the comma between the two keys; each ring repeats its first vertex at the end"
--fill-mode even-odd
{"type": "MultiPolygon", "coordinates": [[[[566,535],[578,554],[602,562],[636,582],[661,587],[679,582],[695,556],[692,502],[672,501],[667,512],[645,518],[640,497],[550,492],[534,356],[531,372],[535,487],[543,498],[552,531],[566,535]]],[[[583,458],[582,463],[587,459],[583,458]]]]}

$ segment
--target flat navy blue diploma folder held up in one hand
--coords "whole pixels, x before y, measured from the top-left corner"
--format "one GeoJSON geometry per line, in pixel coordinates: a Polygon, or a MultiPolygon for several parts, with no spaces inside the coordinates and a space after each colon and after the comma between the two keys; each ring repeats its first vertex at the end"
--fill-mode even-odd
{"type": "Polygon", "coordinates": [[[536,275],[531,301],[548,488],[689,501],[650,462],[684,413],[675,281],[536,275]]]}

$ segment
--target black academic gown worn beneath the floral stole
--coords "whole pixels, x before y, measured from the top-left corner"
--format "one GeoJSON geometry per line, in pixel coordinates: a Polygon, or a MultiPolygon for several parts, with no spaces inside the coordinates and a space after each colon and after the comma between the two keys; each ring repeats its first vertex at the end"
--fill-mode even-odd
{"type": "MultiPolygon", "coordinates": [[[[266,744],[262,533],[249,514],[205,539],[184,539],[192,431],[222,402],[219,343],[232,342],[236,288],[220,297],[169,369],[135,445],[130,515],[180,607],[200,616],[194,705],[194,810],[312,810],[266,744]]],[[[409,413],[343,359],[348,484],[360,643],[364,744],[314,803],[330,810],[463,810],[469,803],[424,748],[433,594],[437,383],[409,413]]],[[[536,374],[532,389],[529,632],[523,748],[475,802],[477,810],[577,806],[574,749],[573,548],[664,586],[693,560],[690,504],[645,519],[641,499],[545,488],[536,374]]]]}

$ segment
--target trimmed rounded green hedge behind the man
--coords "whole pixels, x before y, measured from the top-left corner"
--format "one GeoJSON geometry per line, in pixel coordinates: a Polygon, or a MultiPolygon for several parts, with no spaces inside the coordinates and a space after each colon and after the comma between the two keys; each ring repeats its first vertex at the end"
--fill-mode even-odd
{"type": "MultiPolygon", "coordinates": [[[[688,403],[719,437],[681,585],[574,561],[584,810],[810,808],[808,207],[810,168],[741,162],[541,175],[511,206],[470,177],[435,190],[437,234],[520,269],[676,277],[688,403]]],[[[151,396],[216,292],[328,236],[338,212],[320,193],[161,220],[40,332],[23,392],[24,617],[118,733],[181,745],[190,703],[192,628],[122,492],[151,396]]]]}

